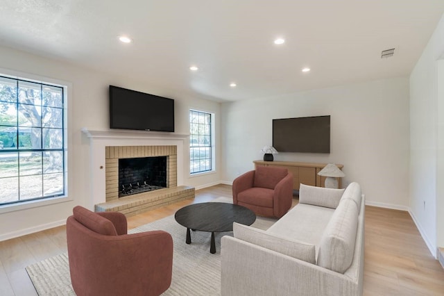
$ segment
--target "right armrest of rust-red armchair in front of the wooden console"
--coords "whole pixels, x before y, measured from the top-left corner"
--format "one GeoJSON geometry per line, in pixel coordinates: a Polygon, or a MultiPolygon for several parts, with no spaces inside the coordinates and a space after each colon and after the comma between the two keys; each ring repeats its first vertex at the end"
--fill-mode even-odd
{"type": "Polygon", "coordinates": [[[276,184],[273,195],[273,213],[275,217],[280,218],[289,211],[293,201],[293,174],[291,172],[276,184]]]}

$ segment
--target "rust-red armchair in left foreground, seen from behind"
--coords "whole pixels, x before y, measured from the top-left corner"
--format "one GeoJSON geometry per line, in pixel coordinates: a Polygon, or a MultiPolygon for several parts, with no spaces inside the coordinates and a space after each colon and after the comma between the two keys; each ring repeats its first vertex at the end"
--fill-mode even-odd
{"type": "Polygon", "coordinates": [[[160,295],[171,284],[173,240],[165,231],[127,234],[125,215],[81,206],[67,219],[71,283],[82,295],[160,295]]]}

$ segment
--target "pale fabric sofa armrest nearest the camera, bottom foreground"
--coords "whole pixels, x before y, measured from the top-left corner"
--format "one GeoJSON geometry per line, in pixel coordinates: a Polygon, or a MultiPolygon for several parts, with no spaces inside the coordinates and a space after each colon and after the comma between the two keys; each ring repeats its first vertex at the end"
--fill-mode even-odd
{"type": "Polygon", "coordinates": [[[221,244],[222,296],[362,295],[359,281],[345,274],[230,236],[221,244]]]}

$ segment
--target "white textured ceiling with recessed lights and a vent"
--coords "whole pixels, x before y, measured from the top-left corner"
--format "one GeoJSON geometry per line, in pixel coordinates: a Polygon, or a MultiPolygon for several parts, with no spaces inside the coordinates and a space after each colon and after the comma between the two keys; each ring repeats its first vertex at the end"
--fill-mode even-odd
{"type": "Polygon", "coordinates": [[[232,101],[408,75],[443,12],[443,0],[2,0],[0,44],[232,101]]]}

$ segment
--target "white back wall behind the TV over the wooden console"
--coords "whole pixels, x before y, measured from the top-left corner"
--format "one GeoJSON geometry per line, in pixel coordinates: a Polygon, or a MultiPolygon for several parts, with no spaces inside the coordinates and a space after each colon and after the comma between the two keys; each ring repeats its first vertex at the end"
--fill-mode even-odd
{"type": "Polygon", "coordinates": [[[368,204],[409,206],[409,80],[370,81],[222,104],[223,178],[253,170],[272,143],[274,118],[331,115],[331,153],[281,153],[275,161],[341,163],[343,185],[361,184],[368,204]]]}

